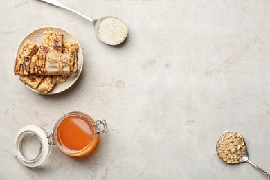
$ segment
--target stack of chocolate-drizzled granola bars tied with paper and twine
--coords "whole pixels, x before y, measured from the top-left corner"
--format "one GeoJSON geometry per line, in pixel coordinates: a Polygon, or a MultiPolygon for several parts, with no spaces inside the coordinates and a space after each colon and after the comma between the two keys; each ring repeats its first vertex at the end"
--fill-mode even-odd
{"type": "Polygon", "coordinates": [[[38,47],[29,39],[15,60],[15,75],[21,82],[38,91],[48,93],[55,84],[66,81],[70,73],[78,72],[78,44],[64,40],[62,33],[44,32],[44,42],[38,47]]]}

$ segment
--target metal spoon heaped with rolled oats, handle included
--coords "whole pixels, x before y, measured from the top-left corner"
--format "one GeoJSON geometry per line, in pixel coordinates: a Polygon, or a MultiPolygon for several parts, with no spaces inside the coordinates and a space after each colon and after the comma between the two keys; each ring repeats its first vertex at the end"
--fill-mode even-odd
{"type": "Polygon", "coordinates": [[[248,162],[270,178],[270,174],[267,174],[267,172],[259,168],[258,165],[249,161],[249,154],[247,152],[246,143],[244,142],[244,137],[237,132],[225,131],[222,136],[219,137],[216,149],[217,155],[222,161],[229,164],[248,162]]]}

